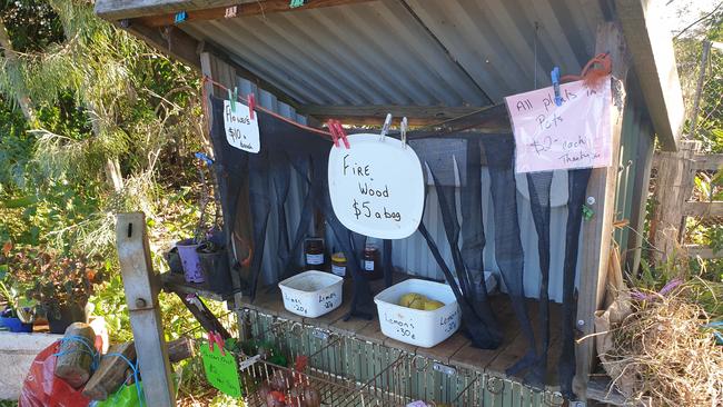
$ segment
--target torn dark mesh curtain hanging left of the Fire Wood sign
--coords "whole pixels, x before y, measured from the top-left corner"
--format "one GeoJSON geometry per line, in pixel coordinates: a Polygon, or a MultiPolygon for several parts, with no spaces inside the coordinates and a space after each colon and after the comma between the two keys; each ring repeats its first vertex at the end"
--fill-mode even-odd
{"type": "MultiPolygon", "coordinates": [[[[228,145],[224,130],[224,100],[211,98],[214,122],[211,139],[214,150],[222,168],[219,173],[219,191],[224,207],[225,225],[237,225],[237,215],[248,207],[251,221],[252,256],[248,268],[240,270],[244,292],[251,298],[257,292],[264,246],[267,240],[269,215],[277,212],[278,229],[274,264],[279,266],[280,278],[289,277],[301,269],[304,238],[311,228],[313,215],[324,214],[337,244],[347,256],[348,269],[354,278],[351,314],[370,318],[374,302],[368,281],[360,274],[358,264],[366,238],[351,234],[334,216],[327,187],[328,153],[331,142],[323,136],[301,129],[271,115],[257,111],[259,131],[263,135],[259,153],[248,153],[228,145]],[[291,177],[299,177],[303,189],[303,208],[297,225],[287,224],[285,204],[289,199],[291,177]],[[248,200],[242,199],[248,185],[248,200]]],[[[225,227],[227,241],[232,230],[225,227]]],[[[238,227],[237,227],[238,229],[238,227]]],[[[237,268],[239,269],[239,268],[237,268]]]]}

